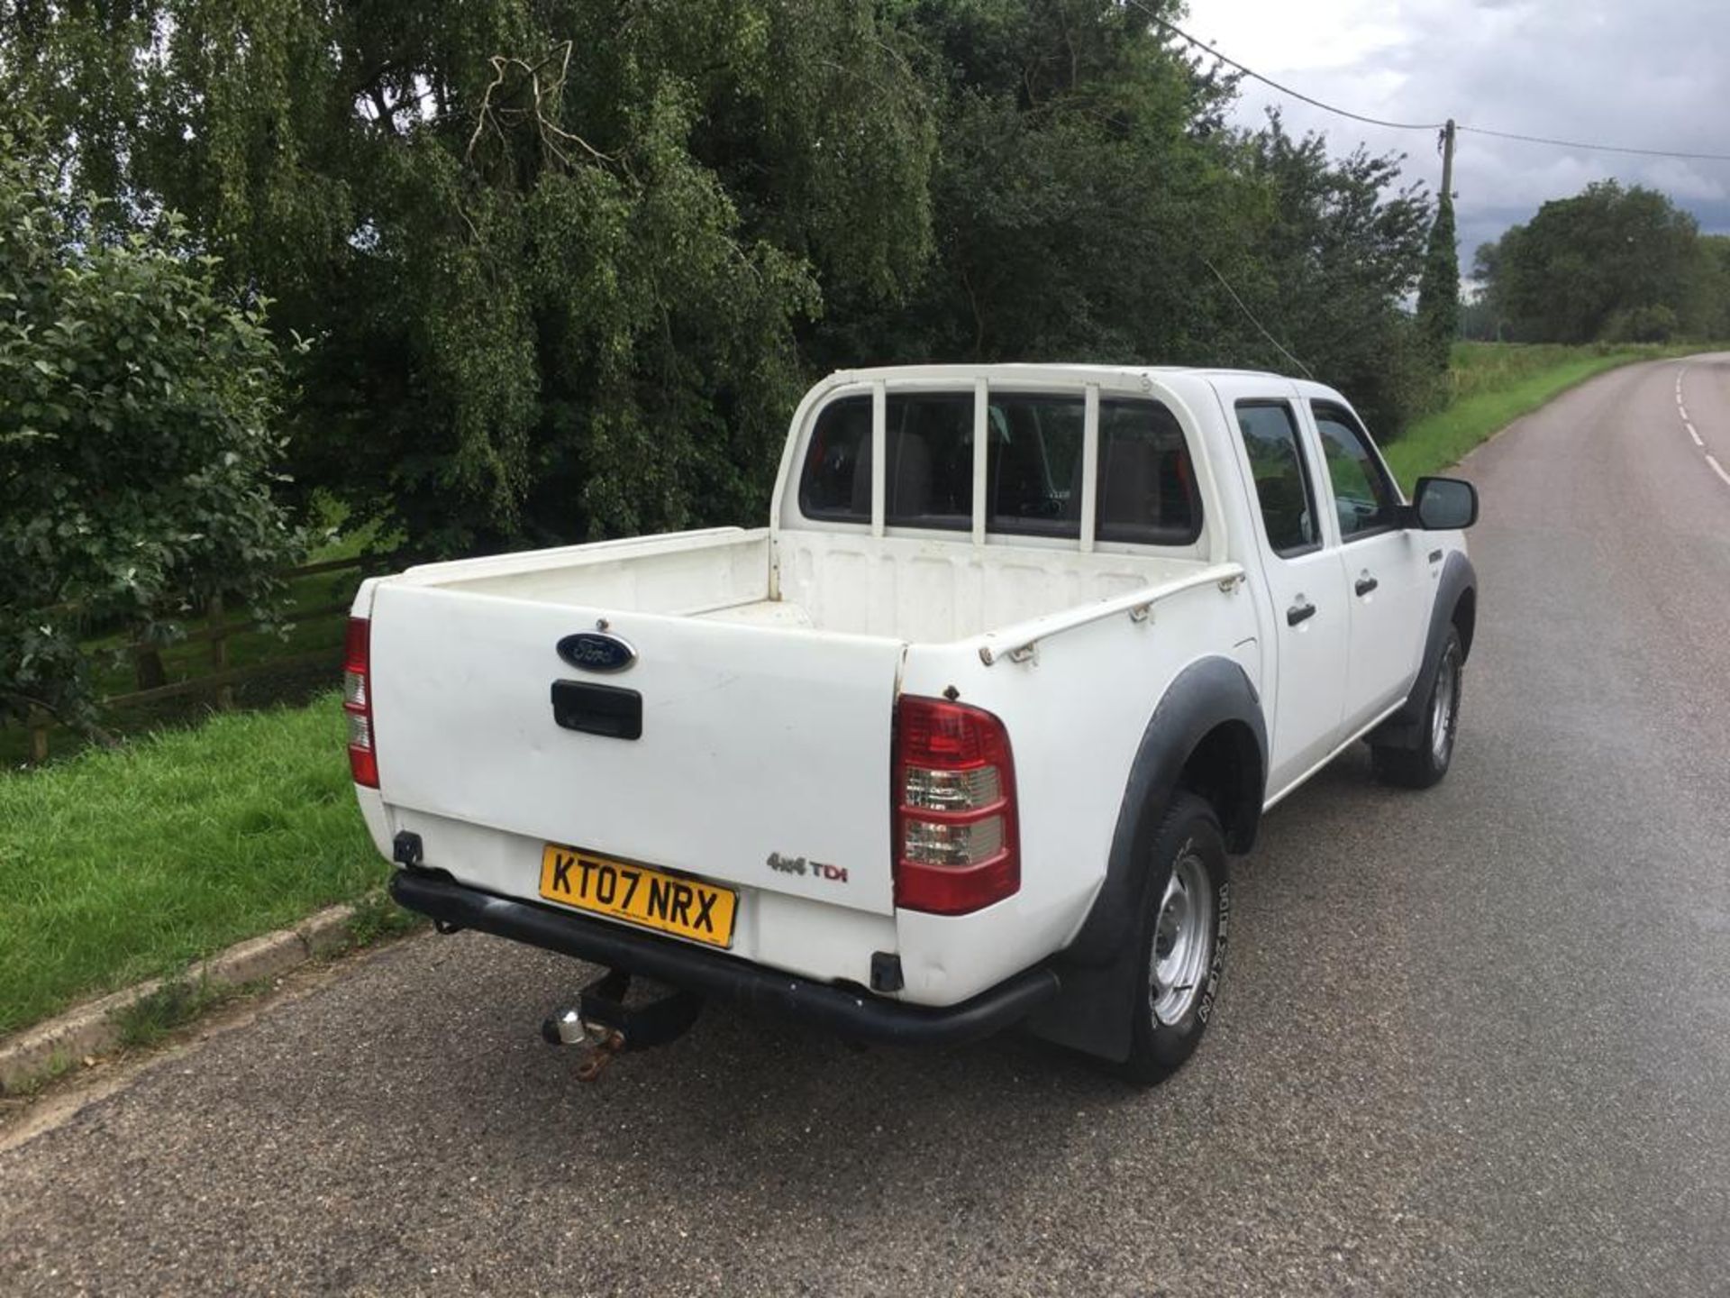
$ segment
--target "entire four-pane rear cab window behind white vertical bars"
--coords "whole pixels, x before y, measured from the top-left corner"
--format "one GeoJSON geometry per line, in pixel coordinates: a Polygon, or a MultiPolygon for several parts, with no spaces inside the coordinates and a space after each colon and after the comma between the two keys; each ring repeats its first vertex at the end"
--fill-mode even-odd
{"type": "MultiPolygon", "coordinates": [[[[884,524],[972,530],[974,391],[889,391],[884,403],[884,524]]],[[[799,476],[808,519],[872,521],[872,398],[818,415],[799,476]]],[[[1086,398],[1080,391],[990,391],[984,530],[1081,538],[1086,398]]],[[[1189,441],[1150,396],[1100,395],[1095,540],[1190,545],[1202,505],[1189,441]]]]}

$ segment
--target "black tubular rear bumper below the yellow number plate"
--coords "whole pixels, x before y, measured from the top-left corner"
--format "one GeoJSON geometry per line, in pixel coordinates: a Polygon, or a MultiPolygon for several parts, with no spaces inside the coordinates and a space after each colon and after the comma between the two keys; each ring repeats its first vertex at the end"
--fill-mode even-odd
{"type": "Polygon", "coordinates": [[[514,938],[689,992],[813,1023],[879,1045],[957,1045],[1009,1028],[1057,995],[1057,974],[1035,967],[958,1006],[932,1009],[849,992],[718,955],[689,943],[637,933],[604,919],[483,893],[453,879],[396,871],[391,896],[432,919],[514,938]]]}

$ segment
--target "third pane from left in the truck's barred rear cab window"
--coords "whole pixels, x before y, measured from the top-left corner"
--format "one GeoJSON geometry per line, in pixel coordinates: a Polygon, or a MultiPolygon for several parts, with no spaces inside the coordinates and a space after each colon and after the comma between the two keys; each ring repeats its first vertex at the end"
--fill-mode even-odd
{"type": "Polygon", "coordinates": [[[990,531],[1081,535],[1081,396],[995,393],[988,412],[990,531]]]}

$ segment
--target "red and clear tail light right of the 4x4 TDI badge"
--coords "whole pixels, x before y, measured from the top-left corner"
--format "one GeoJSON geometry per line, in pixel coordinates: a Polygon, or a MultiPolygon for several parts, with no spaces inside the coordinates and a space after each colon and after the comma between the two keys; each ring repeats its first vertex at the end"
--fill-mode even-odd
{"type": "Polygon", "coordinates": [[[903,696],[894,718],[894,903],[964,916],[1021,888],[1016,763],[988,711],[903,696]]]}

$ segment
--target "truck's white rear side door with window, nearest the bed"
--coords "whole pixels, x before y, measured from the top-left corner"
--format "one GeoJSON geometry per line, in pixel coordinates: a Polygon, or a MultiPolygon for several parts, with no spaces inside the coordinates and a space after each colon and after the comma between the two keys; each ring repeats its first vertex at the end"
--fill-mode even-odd
{"type": "Polygon", "coordinates": [[[1296,396],[1242,382],[1221,382],[1220,395],[1242,440],[1261,526],[1273,649],[1268,793],[1277,796],[1339,744],[1349,611],[1296,396]]]}

